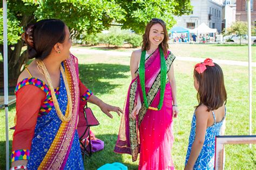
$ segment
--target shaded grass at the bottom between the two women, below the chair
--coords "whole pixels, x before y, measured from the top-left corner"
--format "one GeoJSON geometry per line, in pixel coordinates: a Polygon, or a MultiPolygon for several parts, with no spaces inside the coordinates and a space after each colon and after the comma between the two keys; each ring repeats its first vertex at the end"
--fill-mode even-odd
{"type": "MultiPolygon", "coordinates": [[[[113,152],[117,134],[98,134],[96,137],[104,141],[104,150],[92,153],[91,157],[85,157],[85,169],[97,169],[100,166],[113,162],[120,162],[127,166],[129,170],[138,169],[138,165],[123,163],[122,154],[113,152]]],[[[132,162],[132,159],[130,161],[132,162]]]]}

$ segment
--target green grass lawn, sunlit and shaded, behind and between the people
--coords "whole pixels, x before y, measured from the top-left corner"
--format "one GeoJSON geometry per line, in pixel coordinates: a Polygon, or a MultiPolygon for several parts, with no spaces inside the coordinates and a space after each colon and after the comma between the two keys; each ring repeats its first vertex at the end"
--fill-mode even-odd
{"type": "MultiPolygon", "coordinates": [[[[199,45],[198,45],[199,46],[199,45]]],[[[204,45],[201,45],[203,47],[204,45]]],[[[211,45],[209,45],[211,46],[211,45]]],[[[207,45],[205,47],[208,47],[207,45]]],[[[239,48],[239,47],[237,47],[239,48]]],[[[240,48],[239,48],[240,49],[240,48]]],[[[254,48],[255,50],[255,48],[254,48]]],[[[191,51],[196,51],[192,49],[191,51]]],[[[239,50],[236,50],[240,53],[239,50]]],[[[76,53],[74,53],[76,54],[76,53]]],[[[215,55],[212,51],[211,56],[215,55]]],[[[95,95],[103,101],[123,108],[124,100],[129,87],[131,76],[129,56],[98,55],[76,55],[79,59],[80,79],[90,88],[95,95]]],[[[208,57],[208,56],[207,56],[208,57]]],[[[225,55],[225,59],[226,59],[225,55]]],[[[213,57],[214,59],[215,57],[213,57]]],[[[217,58],[217,57],[216,57],[217,58]]],[[[233,59],[234,60],[234,59],[233,59]]],[[[190,133],[191,119],[194,105],[197,104],[196,90],[193,87],[193,66],[194,62],[175,61],[174,72],[177,82],[177,98],[180,114],[174,119],[174,144],[172,158],[177,169],[184,168],[188,137],[190,133]]],[[[221,65],[225,76],[227,90],[227,118],[226,135],[246,135],[249,132],[248,114],[248,68],[241,66],[221,65]]],[[[253,68],[253,134],[256,134],[256,68],[253,68]]],[[[98,167],[112,162],[122,162],[129,169],[137,169],[138,161],[132,162],[131,156],[127,154],[116,154],[113,152],[119,130],[120,117],[114,114],[113,119],[104,115],[99,108],[90,104],[93,113],[96,115],[100,125],[91,128],[96,137],[104,140],[103,151],[93,153],[92,157],[86,157],[85,169],[97,169],[98,167]]],[[[5,114],[0,110],[0,169],[5,168],[5,114]]],[[[15,105],[9,110],[9,127],[14,125],[15,105]]],[[[9,130],[10,141],[12,130],[9,130]]],[[[150,139],[153,140],[153,139],[150,139]]],[[[11,146],[11,142],[10,142],[11,146]]],[[[228,145],[226,152],[226,169],[256,169],[256,145],[228,145]]]]}

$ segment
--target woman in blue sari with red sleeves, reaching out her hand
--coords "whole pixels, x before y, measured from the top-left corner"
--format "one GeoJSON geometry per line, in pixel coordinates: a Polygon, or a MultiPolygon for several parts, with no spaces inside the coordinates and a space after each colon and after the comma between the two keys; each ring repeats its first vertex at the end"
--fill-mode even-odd
{"type": "Polygon", "coordinates": [[[29,25],[23,39],[35,60],[15,90],[11,169],[84,169],[76,130],[80,101],[98,105],[111,118],[110,111],[122,111],[99,100],[79,80],[69,29],[61,20],[29,25]]]}

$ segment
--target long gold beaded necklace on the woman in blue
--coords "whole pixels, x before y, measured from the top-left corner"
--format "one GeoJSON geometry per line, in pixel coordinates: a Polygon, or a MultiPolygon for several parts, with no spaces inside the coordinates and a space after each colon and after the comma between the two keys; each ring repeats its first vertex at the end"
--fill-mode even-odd
{"type": "Polygon", "coordinates": [[[66,107],[66,114],[65,114],[67,116],[64,116],[62,111],[59,108],[59,103],[58,103],[56,95],[55,95],[55,91],[54,91],[54,88],[53,88],[53,85],[52,85],[51,77],[48,73],[48,70],[46,69],[46,67],[44,65],[44,62],[42,60],[36,60],[36,62],[37,62],[37,68],[38,68],[39,72],[42,73],[45,76],[45,79],[48,83],[48,86],[49,86],[50,91],[51,91],[51,97],[52,97],[53,105],[56,109],[56,112],[57,112],[57,115],[58,115],[59,119],[62,122],[70,121],[71,116],[72,116],[72,100],[71,100],[71,94],[70,94],[68,80],[66,80],[66,74],[64,72],[63,67],[60,65],[59,69],[60,69],[60,72],[62,73],[64,84],[65,84],[65,87],[66,87],[66,93],[67,93],[67,96],[68,96],[68,105],[66,107]]]}

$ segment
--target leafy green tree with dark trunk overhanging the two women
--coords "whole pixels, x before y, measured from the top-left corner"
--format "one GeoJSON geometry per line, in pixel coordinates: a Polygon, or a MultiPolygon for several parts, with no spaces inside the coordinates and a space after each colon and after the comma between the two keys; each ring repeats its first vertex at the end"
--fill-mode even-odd
{"type": "MultiPolygon", "coordinates": [[[[2,2],[0,5],[2,6],[2,2]]],[[[61,19],[69,27],[72,38],[82,39],[82,35],[108,30],[111,25],[143,33],[151,18],[163,19],[167,29],[171,29],[176,23],[174,15],[180,16],[191,11],[190,0],[9,0],[9,76],[17,79],[22,66],[28,60],[26,52],[21,53],[24,43],[21,33],[26,25],[37,20],[61,19]]],[[[3,10],[0,12],[2,19],[3,10]]],[[[3,28],[3,22],[0,22],[1,27],[3,28]]],[[[3,44],[2,30],[0,44],[3,44]]],[[[0,49],[3,54],[3,45],[0,49]]]]}

